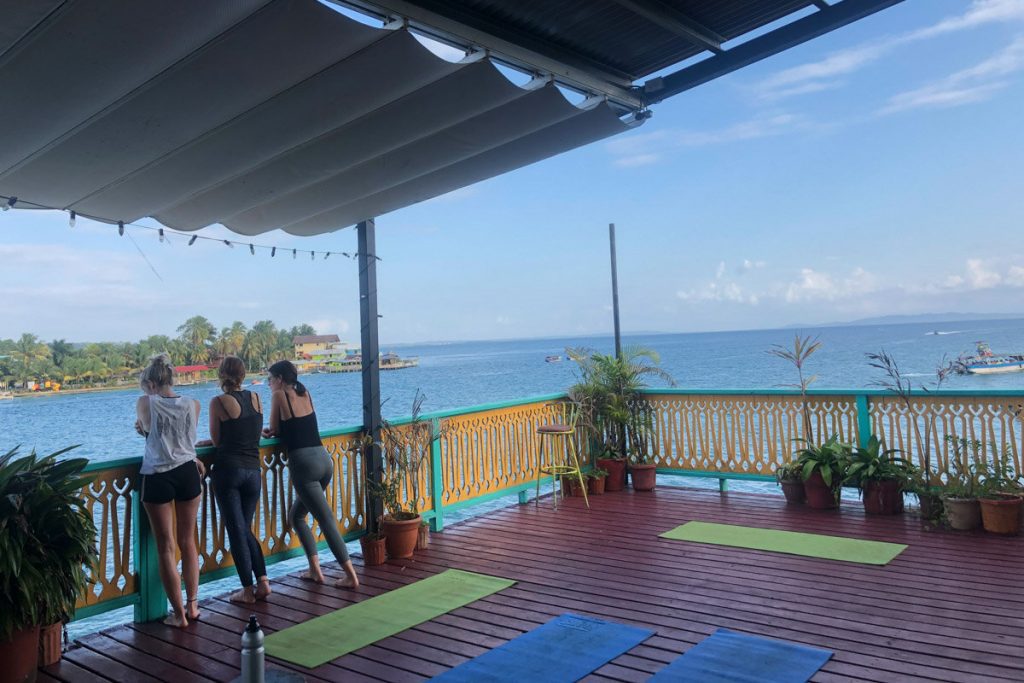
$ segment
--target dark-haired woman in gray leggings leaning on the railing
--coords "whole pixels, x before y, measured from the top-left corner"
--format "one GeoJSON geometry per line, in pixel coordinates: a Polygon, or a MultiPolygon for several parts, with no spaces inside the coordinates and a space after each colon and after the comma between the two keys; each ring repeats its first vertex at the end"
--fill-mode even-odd
{"type": "Polygon", "coordinates": [[[270,426],[263,430],[263,435],[280,436],[288,449],[288,474],[296,498],[288,511],[288,517],[292,528],[299,535],[309,562],[309,571],[303,574],[303,579],[324,583],[316,541],[306,523],[306,515],[312,513],[327,538],[327,545],[345,571],[345,578],[335,582],[335,586],[358,588],[359,579],[348,558],[345,540],[338,531],[337,517],[324,494],[334,474],[334,462],[321,442],[312,398],[302,382],[299,382],[295,366],[290,361],[275,362],[270,366],[267,384],[273,391],[270,398],[270,426]]]}

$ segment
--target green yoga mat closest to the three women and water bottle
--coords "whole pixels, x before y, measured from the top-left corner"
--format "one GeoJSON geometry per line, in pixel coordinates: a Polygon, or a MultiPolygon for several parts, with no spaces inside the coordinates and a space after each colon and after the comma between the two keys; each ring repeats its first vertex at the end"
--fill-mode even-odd
{"type": "Polygon", "coordinates": [[[497,593],[514,581],[447,569],[266,637],[266,653],[312,669],[497,593]]]}

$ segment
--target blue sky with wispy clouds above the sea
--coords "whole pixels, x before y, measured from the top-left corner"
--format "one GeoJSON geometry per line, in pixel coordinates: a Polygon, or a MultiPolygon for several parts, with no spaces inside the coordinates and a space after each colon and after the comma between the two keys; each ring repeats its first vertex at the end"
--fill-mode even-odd
{"type": "MultiPolygon", "coordinates": [[[[1024,0],[907,0],[656,105],[636,131],[377,221],[384,343],[1024,313],[1024,0]]],[[[204,234],[231,237],[221,227],[204,234]]],[[[358,337],[353,261],[0,215],[0,337],[187,316],[358,337]],[[284,256],[284,258],[283,258],[284,256]]],[[[355,232],[258,244],[355,251],[355,232]]]]}

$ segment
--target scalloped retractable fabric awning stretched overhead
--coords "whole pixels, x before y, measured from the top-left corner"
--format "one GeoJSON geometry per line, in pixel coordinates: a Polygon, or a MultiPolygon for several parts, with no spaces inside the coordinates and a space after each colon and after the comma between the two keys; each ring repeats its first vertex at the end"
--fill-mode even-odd
{"type": "Polygon", "coordinates": [[[6,2],[0,195],[316,234],[630,129],[314,0],[6,2]]]}

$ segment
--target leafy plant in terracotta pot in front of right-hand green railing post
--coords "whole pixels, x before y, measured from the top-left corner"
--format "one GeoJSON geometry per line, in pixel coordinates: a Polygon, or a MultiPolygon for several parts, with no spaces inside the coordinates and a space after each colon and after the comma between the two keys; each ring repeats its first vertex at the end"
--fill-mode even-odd
{"type": "Polygon", "coordinates": [[[867,514],[903,512],[903,492],[918,468],[897,458],[897,453],[895,449],[883,451],[872,434],[866,446],[855,449],[850,456],[844,483],[857,487],[867,514]]]}

